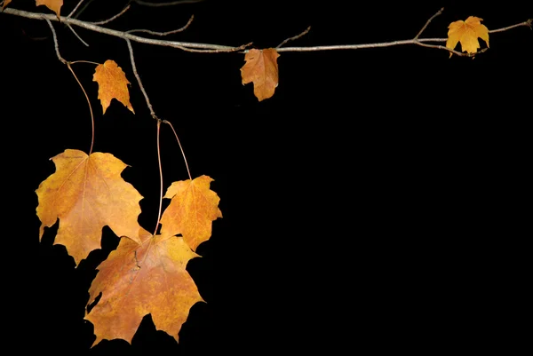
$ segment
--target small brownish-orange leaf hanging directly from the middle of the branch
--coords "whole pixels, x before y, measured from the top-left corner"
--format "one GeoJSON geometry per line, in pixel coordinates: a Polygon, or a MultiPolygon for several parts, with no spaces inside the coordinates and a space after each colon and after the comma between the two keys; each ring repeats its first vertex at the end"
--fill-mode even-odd
{"type": "Polygon", "coordinates": [[[246,63],[241,68],[243,84],[253,82],[253,93],[259,101],[274,95],[278,85],[277,58],[274,48],[252,49],[244,55],[246,63]]]}

